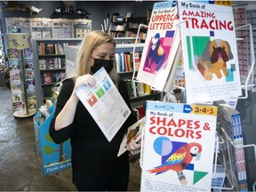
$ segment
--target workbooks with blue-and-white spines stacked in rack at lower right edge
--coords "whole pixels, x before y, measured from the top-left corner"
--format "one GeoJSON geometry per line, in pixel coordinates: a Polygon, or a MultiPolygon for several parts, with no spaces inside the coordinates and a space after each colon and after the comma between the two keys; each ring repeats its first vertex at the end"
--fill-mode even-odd
{"type": "Polygon", "coordinates": [[[244,139],[239,111],[224,100],[213,102],[218,107],[217,133],[220,142],[220,164],[234,185],[236,191],[248,191],[246,164],[244,157],[244,139]]]}

